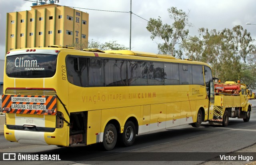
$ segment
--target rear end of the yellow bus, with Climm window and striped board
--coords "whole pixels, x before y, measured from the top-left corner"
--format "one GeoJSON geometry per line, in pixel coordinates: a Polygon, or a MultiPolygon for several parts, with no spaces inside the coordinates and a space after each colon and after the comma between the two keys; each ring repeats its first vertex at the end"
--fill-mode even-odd
{"type": "MultiPolygon", "coordinates": [[[[57,108],[59,50],[17,49],[6,55],[2,112],[9,141],[66,146],[68,124],[57,108]],[[66,140],[65,140],[66,139],[66,140]]],[[[61,70],[61,69],[60,69],[61,70]]],[[[64,92],[64,91],[62,91],[64,92]]]]}

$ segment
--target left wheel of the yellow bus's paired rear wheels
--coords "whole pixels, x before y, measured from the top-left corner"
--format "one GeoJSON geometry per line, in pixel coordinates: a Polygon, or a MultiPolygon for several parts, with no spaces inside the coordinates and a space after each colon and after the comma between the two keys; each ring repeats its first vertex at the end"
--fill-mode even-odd
{"type": "Polygon", "coordinates": [[[113,124],[108,124],[104,130],[103,147],[109,151],[116,145],[117,132],[113,124]]]}

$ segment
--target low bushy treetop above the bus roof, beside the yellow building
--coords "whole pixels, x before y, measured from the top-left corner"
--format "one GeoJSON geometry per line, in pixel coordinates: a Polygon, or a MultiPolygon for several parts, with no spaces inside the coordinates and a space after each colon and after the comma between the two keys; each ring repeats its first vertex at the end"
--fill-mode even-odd
{"type": "Polygon", "coordinates": [[[117,41],[108,41],[105,43],[100,43],[99,41],[95,41],[94,39],[91,39],[87,42],[75,42],[71,47],[74,47],[78,50],[83,49],[100,49],[102,51],[104,50],[128,50],[128,47],[125,47],[124,45],[118,44],[117,41]]]}

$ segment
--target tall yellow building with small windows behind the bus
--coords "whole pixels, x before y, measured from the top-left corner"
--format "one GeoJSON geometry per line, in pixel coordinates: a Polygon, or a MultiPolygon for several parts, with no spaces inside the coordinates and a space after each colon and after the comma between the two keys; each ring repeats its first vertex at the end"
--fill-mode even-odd
{"type": "Polygon", "coordinates": [[[29,11],[7,13],[6,53],[24,47],[88,42],[88,13],[54,4],[54,1],[32,5],[29,11]]]}

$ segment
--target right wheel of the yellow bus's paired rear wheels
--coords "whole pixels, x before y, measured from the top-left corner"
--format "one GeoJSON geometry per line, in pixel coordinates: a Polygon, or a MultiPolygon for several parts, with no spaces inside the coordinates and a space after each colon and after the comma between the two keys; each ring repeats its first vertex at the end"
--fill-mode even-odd
{"type": "Polygon", "coordinates": [[[124,133],[122,133],[122,143],[126,146],[129,147],[133,145],[135,141],[135,126],[134,123],[131,121],[126,122],[124,125],[124,133]]]}

